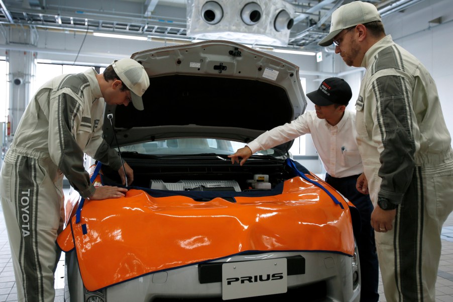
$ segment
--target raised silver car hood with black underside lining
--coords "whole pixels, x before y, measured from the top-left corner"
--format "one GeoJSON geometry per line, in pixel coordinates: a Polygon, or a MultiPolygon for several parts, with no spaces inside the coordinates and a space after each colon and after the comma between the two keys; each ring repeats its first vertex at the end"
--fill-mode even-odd
{"type": "MultiPolygon", "coordinates": [[[[299,67],[230,41],[205,41],[134,53],[150,77],[144,110],[105,109],[104,137],[116,146],[170,138],[250,142],[301,115],[299,67]]],[[[279,146],[287,151],[290,143],[279,146]]]]}

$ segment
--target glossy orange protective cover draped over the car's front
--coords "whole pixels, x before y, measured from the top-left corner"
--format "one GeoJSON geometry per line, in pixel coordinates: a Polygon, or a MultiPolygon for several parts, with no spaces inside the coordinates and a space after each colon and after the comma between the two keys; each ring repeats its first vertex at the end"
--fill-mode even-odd
{"type": "Polygon", "coordinates": [[[281,194],[197,202],[187,196],[152,197],[130,189],[125,197],[85,200],[80,223],[72,217],[58,236],[75,248],[90,290],[144,274],[220,259],[247,251],[325,251],[352,256],[351,203],[294,177],[281,194]]]}

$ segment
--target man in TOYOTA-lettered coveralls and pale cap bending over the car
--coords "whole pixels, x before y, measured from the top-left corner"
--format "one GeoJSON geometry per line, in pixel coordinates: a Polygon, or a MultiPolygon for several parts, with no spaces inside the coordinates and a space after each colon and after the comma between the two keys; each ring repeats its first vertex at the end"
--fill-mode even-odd
{"type": "MultiPolygon", "coordinates": [[[[5,155],[0,198],[10,240],[19,301],[53,302],[54,270],[60,258],[55,240],[63,229],[63,175],[82,197],[124,196],[126,188],[95,188],[84,169],[84,153],[117,169],[121,159],[102,139],[103,110],[109,105],[143,110],[149,76],[141,64],[122,59],[98,74],[57,76],[27,106],[5,155]]],[[[134,179],[127,163],[128,182],[134,179]]]]}

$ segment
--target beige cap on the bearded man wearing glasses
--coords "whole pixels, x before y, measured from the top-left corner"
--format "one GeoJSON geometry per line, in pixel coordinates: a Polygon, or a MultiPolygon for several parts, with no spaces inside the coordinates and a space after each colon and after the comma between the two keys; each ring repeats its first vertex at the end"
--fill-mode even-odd
{"type": "Polygon", "coordinates": [[[371,3],[354,1],[337,8],[332,13],[330,32],[319,41],[319,46],[329,46],[342,30],[372,21],[382,21],[378,9],[371,3]]]}

